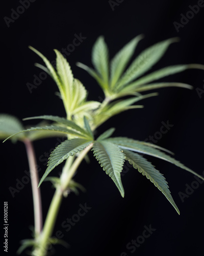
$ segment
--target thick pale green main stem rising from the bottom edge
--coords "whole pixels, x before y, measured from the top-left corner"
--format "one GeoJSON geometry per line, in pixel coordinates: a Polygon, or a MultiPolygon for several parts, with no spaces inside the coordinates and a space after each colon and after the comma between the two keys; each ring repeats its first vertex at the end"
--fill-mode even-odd
{"type": "Polygon", "coordinates": [[[91,143],[89,146],[87,146],[81,152],[81,154],[77,157],[77,159],[75,159],[75,161],[73,162],[71,167],[70,167],[70,162],[68,164],[65,164],[65,166],[70,167],[70,168],[67,169],[66,172],[63,169],[63,173],[66,173],[66,175],[63,176],[63,183],[61,181],[61,184],[57,187],[57,189],[55,191],[53,200],[52,200],[52,202],[49,206],[49,210],[47,212],[47,217],[45,220],[43,231],[38,240],[38,242],[39,242],[38,248],[36,248],[36,250],[33,252],[33,255],[36,255],[36,256],[45,256],[46,255],[49,238],[52,236],[52,233],[53,233],[53,229],[54,229],[57,215],[59,212],[60,204],[62,202],[63,193],[67,189],[71,178],[73,177],[75,171],[79,167],[80,163],[82,162],[82,160],[84,159],[86,154],[91,149],[92,145],[93,145],[93,143],[91,143]]]}

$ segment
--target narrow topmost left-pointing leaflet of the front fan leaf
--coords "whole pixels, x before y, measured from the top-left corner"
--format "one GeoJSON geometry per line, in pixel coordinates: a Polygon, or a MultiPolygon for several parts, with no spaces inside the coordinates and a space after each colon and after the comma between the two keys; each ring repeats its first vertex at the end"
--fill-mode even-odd
{"type": "Polygon", "coordinates": [[[23,120],[32,120],[32,119],[45,119],[45,120],[50,120],[50,121],[54,121],[57,123],[62,123],[68,127],[71,127],[75,131],[78,131],[84,135],[88,135],[87,131],[85,131],[82,127],[80,127],[79,125],[75,124],[74,122],[67,120],[66,118],[63,118],[63,117],[52,116],[52,115],[43,115],[43,116],[34,116],[34,117],[23,118],[23,120]]]}

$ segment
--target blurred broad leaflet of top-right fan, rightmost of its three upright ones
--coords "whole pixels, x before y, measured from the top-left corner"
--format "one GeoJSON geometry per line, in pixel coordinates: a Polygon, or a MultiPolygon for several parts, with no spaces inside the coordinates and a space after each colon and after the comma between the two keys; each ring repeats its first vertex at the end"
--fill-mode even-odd
{"type": "Polygon", "coordinates": [[[152,66],[157,63],[166,52],[172,42],[177,41],[176,38],[170,38],[145,49],[138,57],[132,62],[130,67],[126,70],[117,84],[117,88],[121,89],[125,84],[133,81],[137,77],[143,75],[152,66]]]}

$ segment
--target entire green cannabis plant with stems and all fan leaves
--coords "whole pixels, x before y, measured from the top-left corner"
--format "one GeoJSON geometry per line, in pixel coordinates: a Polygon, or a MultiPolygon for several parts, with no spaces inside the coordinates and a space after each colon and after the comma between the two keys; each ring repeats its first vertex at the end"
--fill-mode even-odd
{"type": "MultiPolygon", "coordinates": [[[[78,188],[81,188],[81,185],[73,181],[72,178],[82,160],[87,157],[89,151],[92,151],[100,166],[113,180],[122,197],[124,197],[124,189],[120,173],[122,172],[124,162],[129,161],[139,173],[154,183],[178,214],[180,214],[180,211],[170,194],[167,181],[163,174],[146,160],[145,155],[173,163],[203,179],[202,176],[175,160],[171,156],[172,153],[165,148],[136,140],[136,138],[113,137],[114,127],[111,127],[97,138],[94,136],[94,131],[97,127],[112,116],[122,111],[143,108],[143,105],[135,103],[158,95],[155,92],[145,93],[147,91],[165,87],[192,89],[192,86],[186,83],[157,82],[158,79],[187,69],[204,69],[204,66],[198,64],[174,65],[149,72],[145,75],[162,58],[167,48],[177,41],[177,38],[158,42],[141,52],[130,63],[135,48],[142,38],[142,35],[133,38],[113,59],[109,60],[108,47],[104,37],[100,36],[97,38],[92,49],[93,68],[89,68],[80,62],[77,63],[101,87],[105,95],[103,102],[87,100],[87,90],[80,80],[74,78],[69,63],[58,50],[54,50],[57,57],[56,67],[53,67],[45,56],[33,47],[30,47],[45,63],[45,66],[39,63],[36,66],[46,71],[57,84],[59,96],[66,111],[66,117],[51,115],[28,117],[24,120],[42,119],[43,121],[37,126],[25,129],[18,119],[2,114],[0,116],[1,138],[5,138],[5,140],[19,140],[25,143],[32,171],[35,170],[36,163],[32,145],[33,141],[53,136],[66,136],[67,139],[59,144],[50,154],[47,168],[40,182],[38,181],[36,170],[34,172],[35,175],[32,177],[35,211],[34,238],[24,240],[18,253],[26,247],[32,246],[32,255],[45,256],[50,244],[62,242],[52,237],[59,207],[63,196],[67,196],[70,191],[76,192],[78,188]],[[65,164],[62,166],[60,177],[50,176],[50,172],[55,176],[54,168],[62,162],[65,164]],[[45,223],[42,225],[39,187],[44,180],[51,181],[56,191],[50,203],[45,223]]],[[[93,84],[93,86],[95,85],[93,84]]]]}

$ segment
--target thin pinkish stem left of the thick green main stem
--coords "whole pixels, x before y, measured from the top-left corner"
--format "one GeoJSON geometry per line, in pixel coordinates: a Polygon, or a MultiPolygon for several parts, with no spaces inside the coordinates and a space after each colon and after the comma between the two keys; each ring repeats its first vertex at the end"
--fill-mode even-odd
{"type": "Polygon", "coordinates": [[[34,207],[34,223],[35,223],[35,237],[40,235],[42,230],[42,204],[40,189],[38,188],[39,177],[37,171],[36,156],[33,147],[33,143],[29,139],[23,140],[29,161],[30,175],[31,175],[31,186],[33,193],[33,207],[34,207]]]}

